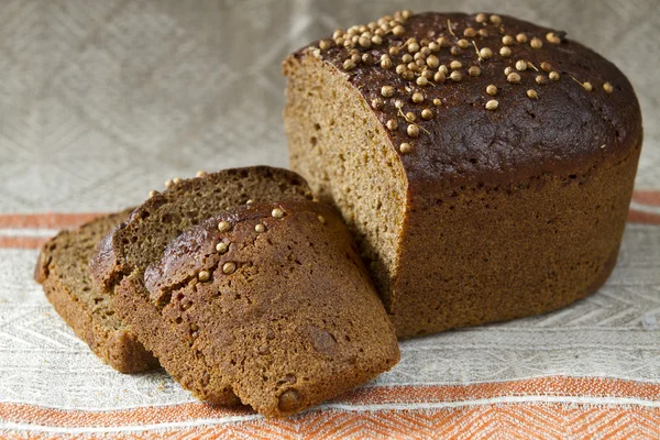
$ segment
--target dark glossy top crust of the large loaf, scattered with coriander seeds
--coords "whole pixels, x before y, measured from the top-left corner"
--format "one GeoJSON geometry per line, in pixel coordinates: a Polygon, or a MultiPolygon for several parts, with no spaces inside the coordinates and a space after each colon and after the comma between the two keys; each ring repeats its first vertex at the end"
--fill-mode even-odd
{"type": "Polygon", "coordinates": [[[384,125],[397,122],[387,132],[411,185],[512,183],[543,173],[565,176],[616,162],[641,143],[639,103],[628,79],[564,32],[490,13],[399,12],[396,22],[392,20],[336,32],[296,56],[330,63],[360,90],[384,125]],[[344,47],[352,34],[356,43],[344,47]],[[477,54],[484,48],[491,57],[488,51],[477,54]],[[406,54],[411,63],[420,58],[418,72],[403,59],[406,54]],[[383,57],[389,62],[381,62],[383,57]],[[451,62],[461,67],[452,69],[451,62]],[[446,78],[436,78],[442,65],[446,78]],[[509,78],[513,82],[507,81],[507,67],[516,74],[509,78]],[[428,84],[422,79],[418,85],[425,69],[428,84]],[[452,72],[460,78],[454,74],[457,80],[451,79],[452,72]],[[486,91],[490,85],[497,87],[495,95],[486,91]],[[384,86],[394,88],[392,96],[383,92],[384,86]],[[414,94],[424,100],[414,102],[414,94]],[[422,118],[425,109],[429,119],[422,118]],[[408,145],[402,152],[403,144],[408,145]]]}

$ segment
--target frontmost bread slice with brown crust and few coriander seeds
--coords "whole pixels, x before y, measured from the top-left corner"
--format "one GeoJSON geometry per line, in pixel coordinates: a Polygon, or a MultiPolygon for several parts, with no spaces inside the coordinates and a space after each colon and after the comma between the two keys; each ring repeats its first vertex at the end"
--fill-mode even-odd
{"type": "Polygon", "coordinates": [[[324,204],[227,210],[116,293],[120,316],[184,387],[267,417],[332,398],[399,359],[356,246],[324,204]]]}

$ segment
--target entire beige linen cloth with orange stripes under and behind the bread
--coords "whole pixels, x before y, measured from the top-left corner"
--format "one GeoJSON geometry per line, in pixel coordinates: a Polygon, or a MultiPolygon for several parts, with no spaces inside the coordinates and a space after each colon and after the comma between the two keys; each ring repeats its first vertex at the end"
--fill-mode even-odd
{"type": "Polygon", "coordinates": [[[0,437],[659,438],[657,7],[0,0],[0,437]],[[629,76],[645,145],[609,280],[553,314],[405,341],[391,372],[284,420],[199,403],[163,371],[101,363],[32,279],[38,245],[172,177],[286,166],[280,61],[403,8],[564,29],[629,76]]]}

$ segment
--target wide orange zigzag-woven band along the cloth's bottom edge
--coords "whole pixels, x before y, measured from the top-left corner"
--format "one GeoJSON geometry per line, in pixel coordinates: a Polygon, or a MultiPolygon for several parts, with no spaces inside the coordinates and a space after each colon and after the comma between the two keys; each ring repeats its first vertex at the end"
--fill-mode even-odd
{"type": "MultiPolygon", "coordinates": [[[[507,404],[442,410],[378,410],[350,413],[310,411],[283,420],[252,419],[224,425],[163,426],[135,425],[127,429],[66,430],[37,428],[14,431],[26,438],[82,438],[113,433],[121,439],[250,438],[250,439],[657,439],[660,409],[635,406],[587,406],[562,404],[507,404]],[[66,436],[66,437],[65,437],[66,436]]],[[[1,433],[1,431],[0,431],[1,433]]],[[[25,438],[21,437],[21,438],[25,438]]]]}

